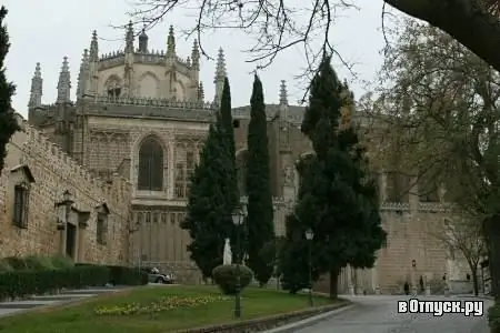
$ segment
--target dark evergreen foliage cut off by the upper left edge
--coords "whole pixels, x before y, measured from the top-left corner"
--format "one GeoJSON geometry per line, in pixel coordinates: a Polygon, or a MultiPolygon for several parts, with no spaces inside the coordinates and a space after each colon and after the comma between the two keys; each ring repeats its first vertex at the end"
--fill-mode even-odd
{"type": "Polygon", "coordinates": [[[11,104],[16,85],[8,82],[6,78],[4,61],[10,48],[9,34],[3,24],[7,12],[6,7],[2,6],[0,8],[0,173],[4,165],[3,159],[7,155],[6,145],[9,143],[10,137],[19,130],[11,104]]]}

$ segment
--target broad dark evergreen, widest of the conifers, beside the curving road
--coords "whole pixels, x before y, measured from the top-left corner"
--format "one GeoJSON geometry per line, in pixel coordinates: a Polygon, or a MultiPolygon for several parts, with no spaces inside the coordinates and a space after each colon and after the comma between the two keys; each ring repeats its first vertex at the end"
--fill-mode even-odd
{"type": "MultiPolygon", "coordinates": [[[[364,149],[354,127],[339,129],[341,110],[351,95],[346,94],[346,89],[330,59],[323,59],[311,82],[302,122],[302,132],[311,140],[314,155],[301,162],[298,204],[287,221],[287,243],[293,249],[304,246],[307,229],[313,231],[313,271],[330,274],[331,297],[338,295],[340,270],[348,264],[373,266],[376,252],[386,240],[364,149]]],[[[307,251],[297,253],[307,255],[307,251]]],[[[297,256],[292,260],[282,264],[288,269],[284,275],[293,270],[307,271],[301,265],[304,260],[297,256]]]]}

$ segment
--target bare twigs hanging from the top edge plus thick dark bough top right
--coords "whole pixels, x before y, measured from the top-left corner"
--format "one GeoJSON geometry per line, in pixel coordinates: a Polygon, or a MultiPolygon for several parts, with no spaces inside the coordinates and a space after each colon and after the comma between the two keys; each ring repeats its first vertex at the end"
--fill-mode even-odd
{"type": "MultiPolygon", "coordinates": [[[[248,61],[266,68],[277,54],[292,47],[302,47],[308,70],[323,56],[336,54],[351,68],[331,43],[331,30],[339,12],[356,8],[356,0],[297,1],[284,0],[137,0],[131,16],[148,28],[156,26],[170,12],[190,9],[197,19],[189,33],[198,34],[201,52],[202,34],[207,30],[239,29],[254,38],[246,51],[248,61]]],[[[499,0],[384,0],[386,4],[424,20],[448,32],[463,46],[500,70],[499,0]]]]}

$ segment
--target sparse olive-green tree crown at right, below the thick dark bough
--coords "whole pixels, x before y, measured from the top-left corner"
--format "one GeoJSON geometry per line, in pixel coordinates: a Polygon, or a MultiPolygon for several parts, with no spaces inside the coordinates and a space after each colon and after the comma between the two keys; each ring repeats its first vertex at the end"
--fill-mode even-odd
{"type": "Polygon", "coordinates": [[[500,254],[500,74],[433,27],[404,20],[389,36],[378,99],[366,104],[382,123],[374,144],[382,160],[399,157],[401,169],[424,184],[444,184],[447,201],[481,216],[474,221],[488,234],[494,284],[500,278],[494,259],[500,254]]]}

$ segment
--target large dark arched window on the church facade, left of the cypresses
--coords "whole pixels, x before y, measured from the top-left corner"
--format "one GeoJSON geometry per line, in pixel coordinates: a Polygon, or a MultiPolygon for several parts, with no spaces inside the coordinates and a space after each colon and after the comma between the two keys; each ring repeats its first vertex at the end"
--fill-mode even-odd
{"type": "Polygon", "coordinates": [[[142,141],[139,149],[138,190],[163,190],[163,148],[152,137],[142,141]]]}

